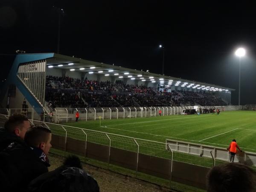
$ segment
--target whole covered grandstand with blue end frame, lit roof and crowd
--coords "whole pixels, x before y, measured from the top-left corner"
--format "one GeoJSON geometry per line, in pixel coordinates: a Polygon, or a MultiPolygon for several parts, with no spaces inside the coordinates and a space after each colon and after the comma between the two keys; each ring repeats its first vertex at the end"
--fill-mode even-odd
{"type": "Polygon", "coordinates": [[[16,56],[0,98],[7,108],[224,106],[230,105],[232,91],[214,84],[41,53],[16,56]]]}

